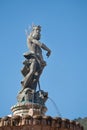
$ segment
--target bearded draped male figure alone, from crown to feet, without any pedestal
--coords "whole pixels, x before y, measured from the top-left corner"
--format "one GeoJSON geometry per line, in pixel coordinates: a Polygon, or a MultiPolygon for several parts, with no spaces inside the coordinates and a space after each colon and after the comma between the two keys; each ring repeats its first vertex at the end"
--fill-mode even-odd
{"type": "Polygon", "coordinates": [[[30,35],[27,36],[27,44],[30,52],[24,54],[26,60],[23,62],[24,67],[21,70],[24,79],[21,81],[23,90],[30,88],[36,90],[37,83],[39,84],[39,78],[46,66],[46,62],[43,59],[42,49],[47,51],[46,56],[49,57],[51,50],[40,40],[41,26],[33,26],[30,35]]]}

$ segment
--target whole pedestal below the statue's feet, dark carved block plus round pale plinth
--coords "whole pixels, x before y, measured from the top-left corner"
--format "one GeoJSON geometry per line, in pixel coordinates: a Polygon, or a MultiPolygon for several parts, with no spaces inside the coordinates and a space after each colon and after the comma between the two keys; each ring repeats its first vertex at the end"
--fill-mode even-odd
{"type": "Polygon", "coordinates": [[[30,91],[29,88],[25,88],[19,92],[17,96],[17,104],[11,107],[13,115],[45,115],[47,107],[45,102],[48,99],[48,93],[43,90],[30,91]]]}

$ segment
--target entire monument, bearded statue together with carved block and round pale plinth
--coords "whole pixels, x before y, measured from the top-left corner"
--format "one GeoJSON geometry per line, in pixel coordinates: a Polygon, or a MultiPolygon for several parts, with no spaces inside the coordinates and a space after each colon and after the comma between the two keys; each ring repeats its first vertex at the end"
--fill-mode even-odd
{"type": "Polygon", "coordinates": [[[44,115],[47,111],[45,102],[48,99],[48,93],[40,88],[39,78],[42,74],[46,61],[44,61],[42,50],[45,50],[49,57],[51,50],[40,42],[41,26],[33,26],[30,34],[27,35],[27,44],[29,51],[24,53],[25,60],[21,73],[22,90],[17,95],[18,103],[11,110],[14,115],[44,115]],[[37,91],[37,85],[39,90],[37,91]]]}

